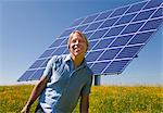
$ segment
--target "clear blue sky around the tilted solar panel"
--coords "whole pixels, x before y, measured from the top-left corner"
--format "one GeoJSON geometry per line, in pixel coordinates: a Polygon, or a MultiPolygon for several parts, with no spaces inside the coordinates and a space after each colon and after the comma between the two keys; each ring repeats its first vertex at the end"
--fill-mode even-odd
{"type": "MultiPolygon", "coordinates": [[[[141,0],[0,1],[0,85],[15,84],[74,20],[138,1],[141,0]]],[[[122,74],[102,76],[101,84],[162,84],[162,32],[160,27],[122,74]]]]}

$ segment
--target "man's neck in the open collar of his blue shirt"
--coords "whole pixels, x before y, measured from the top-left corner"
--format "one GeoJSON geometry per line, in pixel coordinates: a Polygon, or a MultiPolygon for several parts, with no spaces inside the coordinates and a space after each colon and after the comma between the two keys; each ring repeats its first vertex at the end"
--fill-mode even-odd
{"type": "Polygon", "coordinates": [[[71,56],[73,60],[74,70],[76,70],[77,66],[80,65],[85,59],[85,56],[74,56],[74,55],[71,55],[71,56]]]}

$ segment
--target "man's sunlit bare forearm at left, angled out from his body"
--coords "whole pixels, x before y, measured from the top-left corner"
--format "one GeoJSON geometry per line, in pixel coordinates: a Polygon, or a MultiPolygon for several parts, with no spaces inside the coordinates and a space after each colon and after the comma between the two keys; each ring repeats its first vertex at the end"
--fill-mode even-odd
{"type": "Polygon", "coordinates": [[[45,89],[47,83],[48,83],[48,77],[42,76],[38,84],[34,87],[30,97],[26,103],[26,105],[23,108],[21,113],[29,113],[30,105],[35,102],[35,100],[39,97],[39,95],[45,89]]]}

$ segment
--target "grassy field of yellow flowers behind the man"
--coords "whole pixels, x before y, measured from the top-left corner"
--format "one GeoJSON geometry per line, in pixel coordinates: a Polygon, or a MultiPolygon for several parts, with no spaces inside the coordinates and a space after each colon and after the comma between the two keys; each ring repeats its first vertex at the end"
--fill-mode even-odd
{"type": "MultiPolygon", "coordinates": [[[[0,86],[0,113],[20,113],[34,86],[0,86]]],[[[32,113],[37,102],[32,106],[32,113]]],[[[78,112],[78,105],[73,113],[78,112]]],[[[93,86],[89,113],[163,113],[163,88],[93,86]]]]}

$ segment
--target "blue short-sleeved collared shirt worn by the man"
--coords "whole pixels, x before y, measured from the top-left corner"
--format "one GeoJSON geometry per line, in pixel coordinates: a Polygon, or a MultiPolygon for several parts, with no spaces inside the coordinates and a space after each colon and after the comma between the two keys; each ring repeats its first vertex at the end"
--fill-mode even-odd
{"type": "Polygon", "coordinates": [[[49,78],[39,97],[39,104],[46,113],[72,113],[82,95],[89,95],[92,72],[86,61],[76,70],[71,55],[53,56],[43,75],[49,78]]]}

